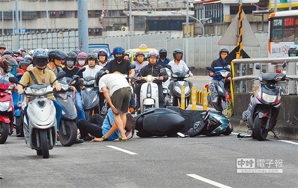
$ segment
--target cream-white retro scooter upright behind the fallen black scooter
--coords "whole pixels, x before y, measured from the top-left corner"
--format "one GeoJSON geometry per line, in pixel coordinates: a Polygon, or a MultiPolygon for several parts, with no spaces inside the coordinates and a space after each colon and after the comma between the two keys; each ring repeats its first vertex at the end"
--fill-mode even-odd
{"type": "MultiPolygon", "coordinates": [[[[166,72],[164,68],[160,69],[159,74],[166,72]]],[[[142,77],[139,80],[136,80],[137,84],[141,84],[144,81],[145,83],[141,86],[140,93],[140,107],[141,113],[143,113],[146,109],[149,108],[158,108],[159,107],[159,97],[158,97],[158,85],[154,83],[154,80],[159,80],[159,74],[157,77],[152,75],[147,75],[146,77],[142,77]]]]}

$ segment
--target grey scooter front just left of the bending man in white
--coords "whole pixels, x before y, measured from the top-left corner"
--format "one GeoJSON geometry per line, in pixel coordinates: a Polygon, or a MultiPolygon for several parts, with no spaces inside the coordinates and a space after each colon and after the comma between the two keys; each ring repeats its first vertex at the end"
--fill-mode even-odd
{"type": "Polygon", "coordinates": [[[95,113],[99,114],[99,88],[95,85],[95,78],[93,76],[86,76],[84,78],[85,84],[81,90],[83,108],[85,110],[86,120],[95,113]]]}

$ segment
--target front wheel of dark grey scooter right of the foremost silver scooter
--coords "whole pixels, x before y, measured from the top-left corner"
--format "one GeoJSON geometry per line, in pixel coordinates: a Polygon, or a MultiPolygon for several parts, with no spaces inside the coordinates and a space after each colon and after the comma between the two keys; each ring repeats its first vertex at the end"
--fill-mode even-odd
{"type": "Polygon", "coordinates": [[[71,146],[75,144],[77,139],[77,125],[73,121],[64,121],[66,135],[63,135],[63,128],[60,125],[59,129],[59,141],[63,146],[71,146]]]}

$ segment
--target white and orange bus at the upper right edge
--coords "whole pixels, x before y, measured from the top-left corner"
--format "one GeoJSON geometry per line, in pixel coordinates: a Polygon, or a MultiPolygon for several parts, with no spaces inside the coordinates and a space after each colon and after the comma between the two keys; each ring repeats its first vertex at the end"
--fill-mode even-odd
{"type": "Polygon", "coordinates": [[[298,44],[298,10],[271,13],[268,21],[268,57],[288,57],[288,48],[298,44]]]}

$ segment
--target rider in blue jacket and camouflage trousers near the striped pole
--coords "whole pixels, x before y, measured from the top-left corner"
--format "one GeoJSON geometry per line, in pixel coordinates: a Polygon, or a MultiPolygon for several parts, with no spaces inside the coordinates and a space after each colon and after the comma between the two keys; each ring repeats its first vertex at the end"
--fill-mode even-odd
{"type": "MultiPolygon", "coordinates": [[[[215,72],[224,70],[224,67],[230,66],[230,63],[226,62],[226,56],[228,56],[228,54],[229,54],[229,49],[227,47],[221,47],[219,49],[219,58],[215,59],[211,63],[211,67],[215,70],[215,72]]],[[[216,76],[216,74],[213,72],[211,72],[209,75],[212,77],[212,81],[209,83],[209,90],[212,95],[212,102],[216,103],[217,95],[218,95],[216,90],[217,88],[216,80],[221,80],[222,77],[220,75],[216,76]]],[[[228,77],[228,79],[230,80],[231,77],[228,77]]]]}

